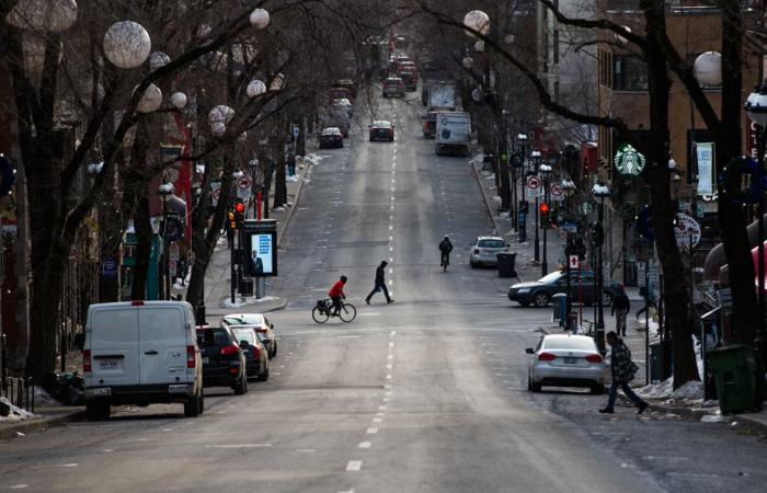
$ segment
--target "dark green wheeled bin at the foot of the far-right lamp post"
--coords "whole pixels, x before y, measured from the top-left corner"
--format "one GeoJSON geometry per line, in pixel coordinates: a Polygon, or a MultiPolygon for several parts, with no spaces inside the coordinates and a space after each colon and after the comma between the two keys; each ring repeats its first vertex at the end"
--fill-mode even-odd
{"type": "Polygon", "coordinates": [[[709,349],[707,356],[717,381],[717,395],[722,414],[754,411],[762,406],[764,395],[758,395],[757,399],[757,369],[762,371],[760,389],[764,388],[765,377],[753,347],[731,344],[709,349]]]}

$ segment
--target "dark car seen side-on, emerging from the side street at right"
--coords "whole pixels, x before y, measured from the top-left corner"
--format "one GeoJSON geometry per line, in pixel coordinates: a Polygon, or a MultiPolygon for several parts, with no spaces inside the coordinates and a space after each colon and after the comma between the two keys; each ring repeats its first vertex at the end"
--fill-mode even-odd
{"type": "MultiPolygon", "coordinates": [[[[508,299],[517,301],[523,307],[530,303],[536,307],[546,307],[551,297],[558,293],[568,290],[566,271],[554,271],[538,280],[530,283],[517,283],[508,288],[508,299]]],[[[594,303],[594,284],[596,277],[592,271],[570,272],[570,298],[573,302],[582,300],[584,305],[594,303]]],[[[604,284],[602,303],[606,307],[613,305],[613,299],[618,293],[623,291],[623,285],[609,280],[604,284]]]]}

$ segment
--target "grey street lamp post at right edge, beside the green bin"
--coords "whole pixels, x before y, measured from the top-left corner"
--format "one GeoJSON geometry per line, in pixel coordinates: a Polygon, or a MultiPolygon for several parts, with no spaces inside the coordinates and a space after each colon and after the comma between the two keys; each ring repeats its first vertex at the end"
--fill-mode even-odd
{"type": "MultiPolygon", "coordinates": [[[[765,144],[767,141],[767,87],[762,84],[756,88],[754,92],[748,95],[745,104],[746,113],[748,118],[752,119],[757,125],[757,140],[756,140],[756,157],[758,162],[759,174],[765,171],[765,144]]],[[[762,186],[762,184],[757,184],[762,186]]],[[[758,236],[759,242],[757,244],[756,255],[757,255],[757,283],[758,283],[758,300],[759,300],[759,322],[758,332],[754,344],[756,345],[756,352],[760,355],[762,362],[767,362],[767,324],[765,323],[765,195],[764,192],[759,193],[759,203],[757,207],[758,216],[758,236]]]]}

